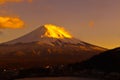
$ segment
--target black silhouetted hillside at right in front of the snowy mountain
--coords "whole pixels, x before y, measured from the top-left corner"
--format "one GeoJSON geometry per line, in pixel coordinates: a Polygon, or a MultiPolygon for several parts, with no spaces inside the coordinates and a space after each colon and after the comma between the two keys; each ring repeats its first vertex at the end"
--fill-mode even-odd
{"type": "Polygon", "coordinates": [[[83,62],[82,66],[102,71],[120,72],[120,47],[96,55],[83,62]]]}

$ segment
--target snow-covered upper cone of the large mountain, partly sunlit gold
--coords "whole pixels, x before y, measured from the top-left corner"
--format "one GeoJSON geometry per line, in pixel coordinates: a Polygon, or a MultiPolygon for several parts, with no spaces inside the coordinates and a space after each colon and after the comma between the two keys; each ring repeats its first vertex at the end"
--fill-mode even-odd
{"type": "MultiPolygon", "coordinates": [[[[43,25],[36,30],[28,33],[20,38],[8,41],[5,44],[15,44],[15,43],[29,43],[29,42],[54,42],[57,39],[62,40],[63,42],[68,41],[75,43],[73,37],[63,28],[58,27],[52,24],[43,25]],[[52,41],[51,41],[52,40],[52,41]]],[[[79,41],[77,41],[78,43],[79,41]]]]}

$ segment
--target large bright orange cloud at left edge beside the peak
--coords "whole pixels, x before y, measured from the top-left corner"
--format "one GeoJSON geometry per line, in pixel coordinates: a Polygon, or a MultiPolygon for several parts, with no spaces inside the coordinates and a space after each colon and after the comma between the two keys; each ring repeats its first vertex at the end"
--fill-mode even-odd
{"type": "Polygon", "coordinates": [[[0,17],[0,28],[17,29],[22,28],[24,22],[19,17],[0,17]]]}

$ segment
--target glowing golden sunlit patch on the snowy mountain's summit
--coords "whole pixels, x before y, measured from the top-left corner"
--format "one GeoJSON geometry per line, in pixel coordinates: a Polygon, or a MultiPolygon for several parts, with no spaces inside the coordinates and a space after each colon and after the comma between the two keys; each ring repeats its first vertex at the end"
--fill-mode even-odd
{"type": "Polygon", "coordinates": [[[44,27],[47,29],[44,36],[51,38],[72,38],[72,35],[68,33],[63,27],[59,27],[53,24],[46,24],[44,27]]]}

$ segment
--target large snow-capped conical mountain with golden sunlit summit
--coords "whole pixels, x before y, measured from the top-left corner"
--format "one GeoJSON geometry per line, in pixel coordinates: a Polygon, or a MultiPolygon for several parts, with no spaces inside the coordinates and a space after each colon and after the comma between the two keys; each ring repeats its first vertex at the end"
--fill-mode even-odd
{"type": "Polygon", "coordinates": [[[0,62],[10,65],[75,63],[106,50],[74,38],[62,27],[46,24],[18,39],[2,43],[0,62]]]}

